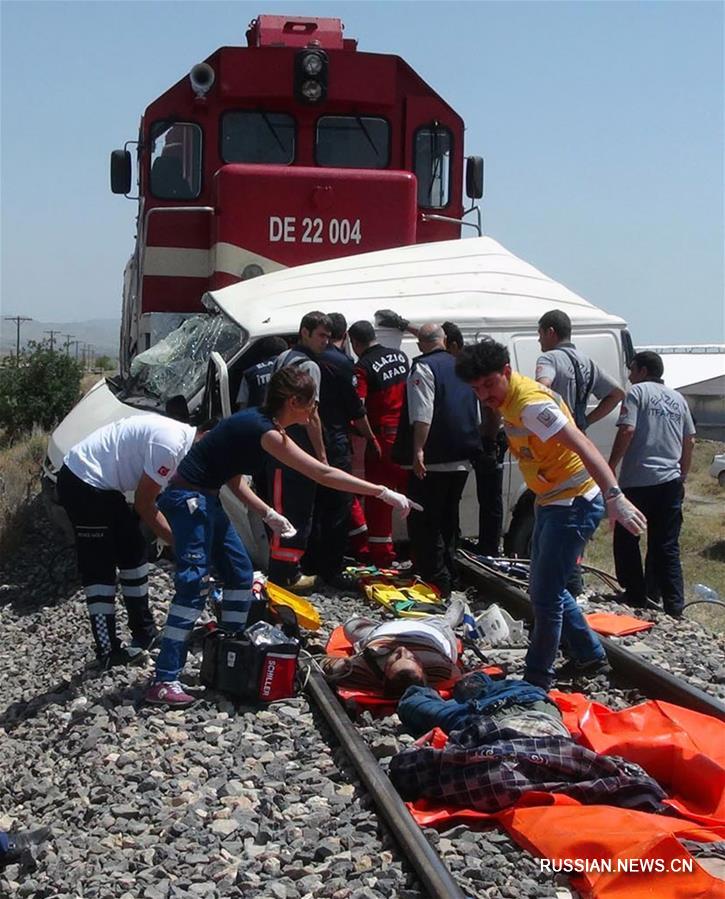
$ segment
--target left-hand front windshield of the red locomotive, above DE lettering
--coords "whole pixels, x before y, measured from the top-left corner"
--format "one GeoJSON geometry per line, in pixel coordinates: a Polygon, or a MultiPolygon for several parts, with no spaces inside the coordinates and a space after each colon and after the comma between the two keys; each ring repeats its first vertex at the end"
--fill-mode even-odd
{"type": "Polygon", "coordinates": [[[228,112],[222,119],[221,157],[289,165],[295,158],[295,120],[282,112],[228,112]]]}

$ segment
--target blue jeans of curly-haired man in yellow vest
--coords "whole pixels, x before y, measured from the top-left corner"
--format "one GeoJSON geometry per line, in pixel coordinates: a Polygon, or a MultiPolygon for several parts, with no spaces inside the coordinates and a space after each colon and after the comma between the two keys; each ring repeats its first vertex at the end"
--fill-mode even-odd
{"type": "Polygon", "coordinates": [[[554,659],[561,640],[577,662],[605,658],[599,637],[589,628],[566,583],[604,517],[601,494],[582,496],[571,506],[537,506],[531,539],[529,595],[534,627],[526,653],[524,678],[548,690],[554,682],[554,659]]]}

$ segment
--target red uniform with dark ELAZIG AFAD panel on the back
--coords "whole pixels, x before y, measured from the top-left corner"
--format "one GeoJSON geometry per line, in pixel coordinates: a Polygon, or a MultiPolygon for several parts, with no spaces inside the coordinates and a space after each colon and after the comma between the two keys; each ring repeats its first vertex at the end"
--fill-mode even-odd
{"type": "MultiPolygon", "coordinates": [[[[408,473],[391,458],[400,413],[405,401],[410,364],[405,353],[380,344],[370,347],[357,361],[355,375],[357,393],[365,403],[370,428],[378,439],[382,458],[376,459],[370,447],[365,455],[365,478],[404,493],[408,473]]],[[[395,559],[393,550],[393,515],[390,506],[375,497],[365,498],[367,542],[371,561],[381,568],[395,559]]],[[[354,525],[360,527],[358,521],[354,525]]],[[[357,549],[362,549],[356,544],[357,549]]]]}

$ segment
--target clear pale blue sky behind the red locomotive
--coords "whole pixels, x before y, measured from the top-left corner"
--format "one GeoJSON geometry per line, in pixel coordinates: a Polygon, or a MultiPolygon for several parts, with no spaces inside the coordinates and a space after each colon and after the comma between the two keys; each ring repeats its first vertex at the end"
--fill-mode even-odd
{"type": "Polygon", "coordinates": [[[135,204],[108,156],[259,13],[338,16],[463,117],[488,234],[636,343],[725,341],[723,5],[3,0],[2,311],[120,314],[135,204]]]}

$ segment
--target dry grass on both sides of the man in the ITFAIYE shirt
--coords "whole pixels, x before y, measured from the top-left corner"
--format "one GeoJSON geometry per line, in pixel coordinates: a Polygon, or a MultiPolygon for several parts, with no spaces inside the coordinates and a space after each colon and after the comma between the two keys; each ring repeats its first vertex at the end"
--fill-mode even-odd
{"type": "MultiPolygon", "coordinates": [[[[712,457],[722,452],[725,443],[716,440],[698,440],[695,444],[680,534],[685,602],[697,598],[692,590],[695,584],[712,587],[725,602],[725,490],[707,473],[712,457]]],[[[586,562],[614,573],[612,537],[606,522],[587,547],[586,562]]],[[[722,607],[700,604],[688,609],[687,615],[725,633],[722,607]]]]}

